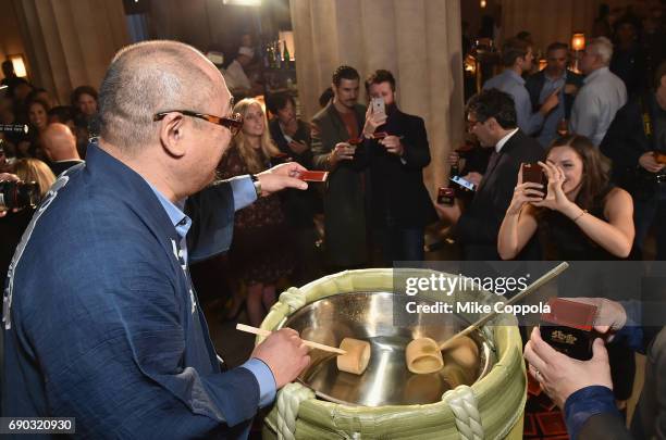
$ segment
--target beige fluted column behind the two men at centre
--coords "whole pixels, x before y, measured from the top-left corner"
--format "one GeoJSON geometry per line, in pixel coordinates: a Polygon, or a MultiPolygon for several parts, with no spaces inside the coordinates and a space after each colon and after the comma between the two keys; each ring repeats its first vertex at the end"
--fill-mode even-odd
{"type": "Polygon", "coordinates": [[[292,0],[298,92],[306,118],[341,64],[361,77],[388,68],[398,103],[425,120],[428,189],[444,183],[445,158],[462,137],[459,0],[292,0]]]}

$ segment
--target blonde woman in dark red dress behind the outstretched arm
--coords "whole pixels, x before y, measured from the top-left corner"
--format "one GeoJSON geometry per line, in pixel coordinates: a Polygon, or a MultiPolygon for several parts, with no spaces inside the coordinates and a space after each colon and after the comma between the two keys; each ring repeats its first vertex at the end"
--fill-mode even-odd
{"type": "MultiPolygon", "coordinates": [[[[268,129],[266,112],[256,99],[244,99],[234,106],[244,117],[243,129],[234,137],[226,155],[218,166],[222,178],[257,174],[272,166],[280,154],[268,129]]],[[[254,326],[261,324],[268,309],[275,302],[275,284],[293,271],[293,243],[279,196],[258,199],[237,211],[230,263],[239,284],[247,287],[247,313],[254,326]]],[[[234,296],[237,301],[237,293],[234,296]]],[[[240,311],[242,303],[237,301],[240,311]]],[[[232,313],[237,315],[237,313],[232,313]]]]}

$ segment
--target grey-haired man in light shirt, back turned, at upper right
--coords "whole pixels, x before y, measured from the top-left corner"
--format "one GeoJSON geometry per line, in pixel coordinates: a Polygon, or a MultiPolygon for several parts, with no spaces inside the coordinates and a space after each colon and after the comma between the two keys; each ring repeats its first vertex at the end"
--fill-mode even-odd
{"type": "Polygon", "coordinates": [[[569,128],[571,133],[587,136],[599,147],[608,130],[615,113],[627,103],[625,83],[608,70],[613,58],[613,43],[606,37],[593,38],[580,60],[585,75],[578,92],[569,128]]]}

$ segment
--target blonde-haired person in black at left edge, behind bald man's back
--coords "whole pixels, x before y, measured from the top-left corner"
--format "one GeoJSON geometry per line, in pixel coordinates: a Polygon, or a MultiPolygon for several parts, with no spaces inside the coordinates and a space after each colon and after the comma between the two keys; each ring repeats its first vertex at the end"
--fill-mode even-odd
{"type": "MultiPolygon", "coordinates": [[[[55,181],[55,176],[49,165],[38,159],[20,159],[13,165],[13,174],[0,175],[0,180],[23,180],[37,184],[38,203],[55,181]]],[[[25,231],[35,206],[27,206],[18,211],[8,211],[0,214],[0,277],[7,276],[12,255],[21,236],[25,231]]]]}

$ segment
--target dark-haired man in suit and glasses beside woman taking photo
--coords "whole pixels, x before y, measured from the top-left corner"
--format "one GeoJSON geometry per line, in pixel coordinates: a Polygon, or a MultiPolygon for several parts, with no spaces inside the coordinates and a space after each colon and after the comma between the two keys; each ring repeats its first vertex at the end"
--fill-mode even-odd
{"type": "MultiPolygon", "coordinates": [[[[481,146],[494,151],[465,212],[457,199],[453,206],[435,208],[454,225],[453,236],[462,246],[466,260],[499,260],[497,234],[514,196],[520,164],[543,160],[544,151],[518,128],[511,97],[497,89],[483,90],[469,100],[467,123],[481,146]]],[[[534,243],[526,247],[520,259],[540,259],[534,243]]]]}

